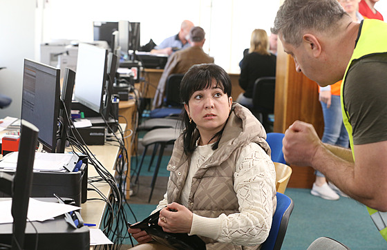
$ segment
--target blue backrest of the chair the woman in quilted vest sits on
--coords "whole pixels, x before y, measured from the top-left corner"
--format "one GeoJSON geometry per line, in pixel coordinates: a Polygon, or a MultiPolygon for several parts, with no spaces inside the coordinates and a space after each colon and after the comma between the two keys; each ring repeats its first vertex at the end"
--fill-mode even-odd
{"type": "Polygon", "coordinates": [[[277,207],[273,215],[272,227],[270,228],[269,236],[261,245],[261,250],[281,249],[287,223],[293,211],[294,203],[292,199],[283,193],[277,193],[276,196],[277,207]]]}

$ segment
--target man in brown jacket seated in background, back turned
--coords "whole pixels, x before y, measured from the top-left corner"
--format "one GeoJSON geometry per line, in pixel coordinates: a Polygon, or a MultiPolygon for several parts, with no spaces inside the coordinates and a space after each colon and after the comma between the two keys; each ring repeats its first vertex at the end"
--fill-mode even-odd
{"type": "Polygon", "coordinates": [[[185,74],[194,64],[213,64],[214,57],[207,55],[202,47],[205,44],[205,30],[199,26],[191,28],[189,32],[191,47],[180,50],[169,57],[164,72],[158,82],[158,88],[153,98],[153,108],[159,108],[164,98],[165,85],[171,74],[185,74]]]}

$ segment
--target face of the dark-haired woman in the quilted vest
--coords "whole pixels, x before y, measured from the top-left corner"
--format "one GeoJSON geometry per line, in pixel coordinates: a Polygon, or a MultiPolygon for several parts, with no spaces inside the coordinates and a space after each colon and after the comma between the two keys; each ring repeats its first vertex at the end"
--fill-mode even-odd
{"type": "Polygon", "coordinates": [[[200,134],[218,133],[225,125],[232,106],[232,97],[227,97],[223,90],[216,87],[212,80],[211,88],[198,90],[191,95],[185,110],[196,123],[200,134]]]}

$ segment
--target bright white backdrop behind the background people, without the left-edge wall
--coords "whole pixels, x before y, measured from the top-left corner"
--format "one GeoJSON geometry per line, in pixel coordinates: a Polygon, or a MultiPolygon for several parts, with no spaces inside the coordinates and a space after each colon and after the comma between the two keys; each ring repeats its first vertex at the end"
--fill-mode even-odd
{"type": "Polygon", "coordinates": [[[49,0],[43,37],[44,41],[93,41],[93,21],[122,19],[141,23],[141,45],[149,39],[160,44],[178,33],[182,20],[189,19],[205,29],[204,50],[215,57],[215,63],[238,72],[252,30],[264,28],[270,32],[278,8],[279,0],[49,0]]]}

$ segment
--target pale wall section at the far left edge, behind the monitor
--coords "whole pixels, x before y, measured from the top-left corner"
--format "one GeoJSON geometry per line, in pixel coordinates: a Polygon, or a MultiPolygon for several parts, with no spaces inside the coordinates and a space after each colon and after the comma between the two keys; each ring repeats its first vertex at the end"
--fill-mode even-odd
{"type": "Polygon", "coordinates": [[[20,117],[23,59],[35,59],[35,1],[0,1],[0,93],[12,98],[0,117],[20,117]]]}

